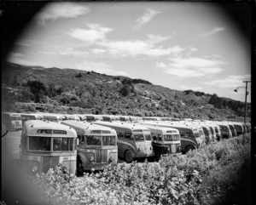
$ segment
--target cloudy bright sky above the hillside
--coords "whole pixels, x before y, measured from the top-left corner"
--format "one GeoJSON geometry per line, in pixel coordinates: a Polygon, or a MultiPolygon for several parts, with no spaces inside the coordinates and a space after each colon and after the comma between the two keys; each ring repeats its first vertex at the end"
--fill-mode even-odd
{"type": "MultiPolygon", "coordinates": [[[[229,8],[240,21],[242,15],[240,25],[221,3],[49,3],[7,61],[141,78],[244,101],[251,48],[249,26],[241,24],[250,22],[250,14],[236,3],[229,8]]],[[[251,83],[248,91],[250,102],[251,83]]]]}

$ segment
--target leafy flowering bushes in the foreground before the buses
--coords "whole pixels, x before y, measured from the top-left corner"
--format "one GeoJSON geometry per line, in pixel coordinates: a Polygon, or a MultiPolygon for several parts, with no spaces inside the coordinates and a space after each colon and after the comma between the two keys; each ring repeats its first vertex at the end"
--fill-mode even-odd
{"type": "Polygon", "coordinates": [[[43,204],[249,204],[250,141],[222,140],[187,157],[122,163],[76,177],[57,166],[30,178],[43,204]]]}

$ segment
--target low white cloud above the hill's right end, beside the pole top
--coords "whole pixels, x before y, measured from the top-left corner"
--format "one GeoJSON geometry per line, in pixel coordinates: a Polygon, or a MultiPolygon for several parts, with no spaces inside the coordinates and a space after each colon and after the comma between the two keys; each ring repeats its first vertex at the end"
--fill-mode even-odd
{"type": "Polygon", "coordinates": [[[208,80],[205,81],[207,85],[216,86],[218,88],[236,88],[236,87],[244,87],[245,83],[242,83],[242,81],[250,80],[250,75],[245,76],[228,76],[228,77],[222,77],[215,80],[208,80]]]}

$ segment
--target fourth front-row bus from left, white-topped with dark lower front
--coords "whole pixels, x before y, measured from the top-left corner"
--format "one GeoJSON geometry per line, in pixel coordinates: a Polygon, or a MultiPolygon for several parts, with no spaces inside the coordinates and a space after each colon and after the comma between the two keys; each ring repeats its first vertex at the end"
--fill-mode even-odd
{"type": "Polygon", "coordinates": [[[154,156],[159,159],[160,156],[180,155],[181,141],[176,128],[164,128],[159,126],[146,125],[152,136],[152,146],[154,156]]]}

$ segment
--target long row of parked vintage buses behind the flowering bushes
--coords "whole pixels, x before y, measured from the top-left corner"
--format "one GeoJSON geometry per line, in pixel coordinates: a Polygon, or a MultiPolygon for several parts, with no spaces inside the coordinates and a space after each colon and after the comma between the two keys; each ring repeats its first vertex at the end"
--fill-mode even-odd
{"type": "Polygon", "coordinates": [[[143,119],[109,122],[99,117],[90,122],[63,118],[56,123],[46,121],[45,115],[42,118],[20,113],[21,118],[25,116],[38,117],[23,118],[20,140],[20,162],[32,173],[46,172],[58,163],[67,165],[72,174],[91,168],[102,170],[108,164],[116,165],[118,157],[132,162],[136,158],[179,155],[250,131],[249,124],[242,122],[143,119]]]}

